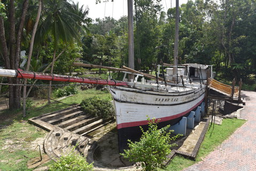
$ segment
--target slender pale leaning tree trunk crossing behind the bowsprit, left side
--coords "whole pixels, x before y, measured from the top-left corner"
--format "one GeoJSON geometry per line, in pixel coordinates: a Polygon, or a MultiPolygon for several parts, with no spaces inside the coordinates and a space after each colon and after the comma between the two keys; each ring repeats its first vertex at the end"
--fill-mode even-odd
{"type": "MultiPolygon", "coordinates": [[[[33,46],[34,46],[34,40],[35,40],[35,34],[36,34],[36,28],[40,19],[40,15],[41,15],[41,9],[42,9],[42,2],[41,0],[38,1],[38,10],[37,10],[37,16],[36,16],[36,22],[33,28],[33,32],[32,32],[32,37],[31,37],[31,41],[30,41],[30,46],[29,46],[29,53],[28,53],[28,61],[27,61],[27,66],[26,66],[26,71],[29,70],[29,66],[30,66],[30,61],[31,61],[31,57],[32,57],[32,52],[33,52],[33,46]]],[[[27,79],[24,80],[24,84],[27,84],[27,79]]],[[[27,94],[27,87],[24,86],[23,87],[23,117],[26,116],[26,94],[27,94]]]]}

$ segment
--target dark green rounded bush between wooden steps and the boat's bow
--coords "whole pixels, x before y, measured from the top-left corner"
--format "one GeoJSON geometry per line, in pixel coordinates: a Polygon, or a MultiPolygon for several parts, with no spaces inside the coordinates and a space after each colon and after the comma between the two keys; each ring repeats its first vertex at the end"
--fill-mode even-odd
{"type": "Polygon", "coordinates": [[[114,106],[106,99],[99,99],[97,97],[90,97],[81,102],[81,106],[87,114],[93,116],[102,116],[103,118],[110,118],[114,115],[114,106]]]}

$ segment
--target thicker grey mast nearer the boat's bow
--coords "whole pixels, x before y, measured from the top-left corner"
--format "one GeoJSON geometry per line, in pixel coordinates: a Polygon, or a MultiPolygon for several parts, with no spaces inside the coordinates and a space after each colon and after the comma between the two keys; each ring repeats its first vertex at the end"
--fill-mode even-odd
{"type": "MultiPolygon", "coordinates": [[[[133,34],[133,0],[128,0],[128,66],[134,69],[134,34],[133,34]]],[[[129,79],[134,80],[134,75],[129,74],[129,79]]]]}

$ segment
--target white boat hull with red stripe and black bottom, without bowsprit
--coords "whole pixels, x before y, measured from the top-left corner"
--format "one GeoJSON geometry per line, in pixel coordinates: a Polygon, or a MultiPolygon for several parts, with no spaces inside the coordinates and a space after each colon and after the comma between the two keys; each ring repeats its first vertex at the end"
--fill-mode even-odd
{"type": "Polygon", "coordinates": [[[127,148],[127,139],[138,141],[139,126],[146,128],[147,118],[160,119],[159,127],[174,125],[199,106],[205,97],[204,88],[180,92],[158,92],[129,87],[110,87],[115,104],[119,150],[127,148]]]}

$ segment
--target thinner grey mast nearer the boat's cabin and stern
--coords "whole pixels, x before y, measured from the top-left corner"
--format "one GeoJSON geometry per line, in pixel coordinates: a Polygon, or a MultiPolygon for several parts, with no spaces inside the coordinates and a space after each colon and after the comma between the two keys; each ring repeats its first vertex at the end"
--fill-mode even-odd
{"type": "Polygon", "coordinates": [[[174,40],[174,62],[173,62],[173,75],[176,75],[173,77],[173,81],[178,81],[177,77],[177,65],[178,65],[178,47],[179,47],[179,20],[180,20],[180,14],[179,14],[179,0],[176,0],[176,14],[175,14],[175,40],[174,40]]]}

